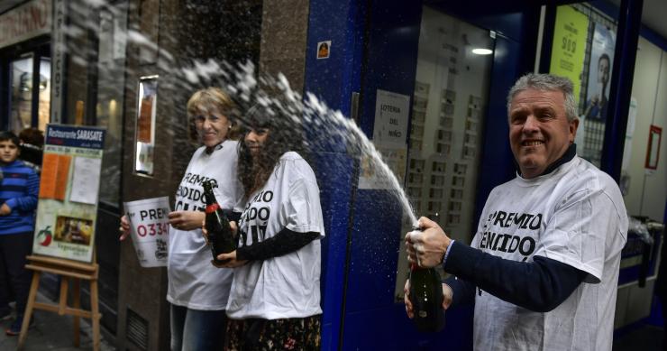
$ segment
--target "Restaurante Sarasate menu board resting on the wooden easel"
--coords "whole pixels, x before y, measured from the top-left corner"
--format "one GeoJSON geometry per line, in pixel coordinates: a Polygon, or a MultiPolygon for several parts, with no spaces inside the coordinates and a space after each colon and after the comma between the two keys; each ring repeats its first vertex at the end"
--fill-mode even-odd
{"type": "Polygon", "coordinates": [[[105,130],[47,125],[32,252],[91,262],[105,130]]]}

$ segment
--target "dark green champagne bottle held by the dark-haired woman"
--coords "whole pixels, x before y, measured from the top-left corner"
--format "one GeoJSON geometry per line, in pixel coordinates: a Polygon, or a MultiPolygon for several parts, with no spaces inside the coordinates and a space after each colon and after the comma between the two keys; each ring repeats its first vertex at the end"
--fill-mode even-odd
{"type": "Polygon", "coordinates": [[[228,254],[236,250],[236,241],[229,226],[229,219],[215,200],[213,188],[216,186],[215,180],[206,180],[202,184],[206,199],[206,231],[214,262],[224,263],[217,259],[218,254],[228,254]]]}

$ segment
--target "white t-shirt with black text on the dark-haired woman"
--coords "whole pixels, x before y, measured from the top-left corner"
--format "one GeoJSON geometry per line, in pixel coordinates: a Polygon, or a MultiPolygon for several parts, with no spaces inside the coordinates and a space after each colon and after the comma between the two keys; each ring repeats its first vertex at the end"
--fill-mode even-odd
{"type": "MultiPolygon", "coordinates": [[[[239,247],[286,227],[324,237],[315,173],[297,152],[283,154],[264,187],[248,198],[239,221],[239,247]]],[[[236,268],[227,316],[288,319],[322,313],[320,264],[320,240],[315,239],[295,252],[236,268]]]]}

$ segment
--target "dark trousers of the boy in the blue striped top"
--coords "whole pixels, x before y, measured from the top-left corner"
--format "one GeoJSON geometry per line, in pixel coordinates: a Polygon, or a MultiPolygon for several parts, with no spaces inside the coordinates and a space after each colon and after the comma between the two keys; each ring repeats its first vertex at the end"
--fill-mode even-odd
{"type": "Polygon", "coordinates": [[[7,309],[14,297],[16,313],[25,311],[32,280],[25,256],[31,253],[32,233],[0,235],[0,309],[7,309]]]}

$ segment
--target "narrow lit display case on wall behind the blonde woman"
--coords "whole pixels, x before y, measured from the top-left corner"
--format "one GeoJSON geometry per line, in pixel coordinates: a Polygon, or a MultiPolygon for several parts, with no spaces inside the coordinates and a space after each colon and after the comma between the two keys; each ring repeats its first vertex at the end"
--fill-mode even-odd
{"type": "Polygon", "coordinates": [[[158,105],[158,76],[139,79],[137,119],[134,134],[134,172],[153,175],[155,114],[158,105]]]}

